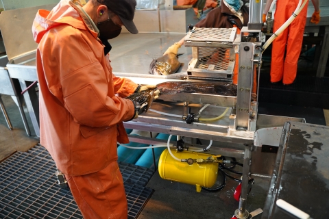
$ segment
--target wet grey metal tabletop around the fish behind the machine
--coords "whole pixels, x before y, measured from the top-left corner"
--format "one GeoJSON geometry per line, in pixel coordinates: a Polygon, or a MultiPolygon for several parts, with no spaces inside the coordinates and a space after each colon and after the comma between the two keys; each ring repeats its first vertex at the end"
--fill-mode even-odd
{"type": "MultiPolygon", "coordinates": [[[[110,60],[115,75],[132,73],[135,77],[152,77],[149,74],[149,64],[175,42],[181,40],[185,34],[120,34],[109,40],[112,45],[110,60]]],[[[177,73],[186,73],[187,64],[192,59],[191,47],[181,47],[178,60],[183,65],[177,73]]],[[[176,74],[177,74],[176,73],[176,74]]],[[[159,77],[161,78],[161,76],[159,77]]],[[[164,77],[162,77],[164,78],[164,77]]]]}

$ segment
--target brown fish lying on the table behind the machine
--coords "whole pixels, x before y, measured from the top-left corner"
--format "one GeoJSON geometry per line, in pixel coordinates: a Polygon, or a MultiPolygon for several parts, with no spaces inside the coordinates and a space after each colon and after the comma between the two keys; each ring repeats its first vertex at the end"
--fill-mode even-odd
{"type": "Polygon", "coordinates": [[[149,64],[149,73],[152,75],[171,75],[175,73],[182,63],[178,61],[178,55],[168,53],[156,58],[149,64]]]}

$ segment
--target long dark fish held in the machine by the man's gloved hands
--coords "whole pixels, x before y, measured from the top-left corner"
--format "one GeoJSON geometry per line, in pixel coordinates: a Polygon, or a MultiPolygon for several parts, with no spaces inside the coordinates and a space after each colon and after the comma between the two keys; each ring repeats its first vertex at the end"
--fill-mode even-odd
{"type": "Polygon", "coordinates": [[[236,96],[237,86],[221,81],[167,81],[158,83],[156,89],[145,90],[127,96],[126,99],[134,101],[139,106],[138,114],[147,112],[154,101],[154,91],[160,90],[162,95],[174,95],[180,93],[216,94],[221,96],[236,96]]]}

